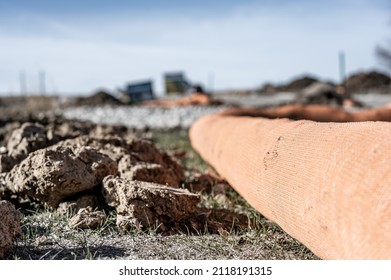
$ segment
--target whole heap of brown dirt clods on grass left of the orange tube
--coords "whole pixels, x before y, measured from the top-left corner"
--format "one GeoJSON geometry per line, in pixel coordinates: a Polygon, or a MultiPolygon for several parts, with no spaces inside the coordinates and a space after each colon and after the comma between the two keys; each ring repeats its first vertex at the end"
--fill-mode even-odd
{"type": "MultiPolygon", "coordinates": [[[[199,195],[191,186],[206,183],[209,175],[201,175],[201,181],[185,178],[178,159],[157,149],[149,132],[8,109],[4,112],[11,115],[0,116],[0,199],[14,203],[24,215],[48,207],[69,217],[70,228],[94,229],[107,222],[107,211],[123,207],[125,212],[118,211],[117,217],[121,227],[158,226],[164,234],[189,229],[198,234],[205,228],[220,234],[251,223],[246,215],[228,209],[199,207],[199,195]],[[112,196],[103,195],[110,178],[125,199],[116,206],[112,196]],[[133,202],[126,200],[132,196],[133,202]],[[132,212],[141,204],[144,211],[132,212]]],[[[209,192],[213,180],[206,183],[209,192]]],[[[220,187],[221,201],[225,191],[227,185],[220,187]]]]}

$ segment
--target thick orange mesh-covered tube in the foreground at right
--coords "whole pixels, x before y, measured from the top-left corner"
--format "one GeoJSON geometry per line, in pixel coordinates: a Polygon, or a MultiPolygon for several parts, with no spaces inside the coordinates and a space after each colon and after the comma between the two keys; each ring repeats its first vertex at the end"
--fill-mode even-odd
{"type": "Polygon", "coordinates": [[[391,259],[391,124],[212,115],[192,146],[323,259],[391,259]]]}

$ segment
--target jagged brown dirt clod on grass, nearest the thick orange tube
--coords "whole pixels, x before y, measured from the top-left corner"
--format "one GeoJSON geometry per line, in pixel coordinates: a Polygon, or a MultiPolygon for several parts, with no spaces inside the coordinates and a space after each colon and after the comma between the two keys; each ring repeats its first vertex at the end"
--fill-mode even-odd
{"type": "Polygon", "coordinates": [[[188,190],[108,176],[103,180],[108,205],[117,211],[120,228],[169,229],[197,212],[200,197],[188,190]]]}

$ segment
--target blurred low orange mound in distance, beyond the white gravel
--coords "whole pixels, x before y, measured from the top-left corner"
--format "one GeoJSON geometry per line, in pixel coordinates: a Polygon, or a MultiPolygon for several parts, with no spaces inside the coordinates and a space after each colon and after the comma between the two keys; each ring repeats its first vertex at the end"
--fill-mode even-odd
{"type": "Polygon", "coordinates": [[[141,106],[173,108],[178,106],[215,106],[221,105],[221,100],[215,99],[204,93],[193,93],[176,100],[152,100],[146,101],[141,106]]]}

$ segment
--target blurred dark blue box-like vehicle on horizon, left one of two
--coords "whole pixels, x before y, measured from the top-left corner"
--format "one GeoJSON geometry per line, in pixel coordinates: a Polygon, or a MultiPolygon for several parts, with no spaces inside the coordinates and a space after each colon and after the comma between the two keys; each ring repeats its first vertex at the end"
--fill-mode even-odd
{"type": "Polygon", "coordinates": [[[155,99],[152,81],[129,83],[121,93],[121,99],[125,103],[138,103],[155,99]]]}

